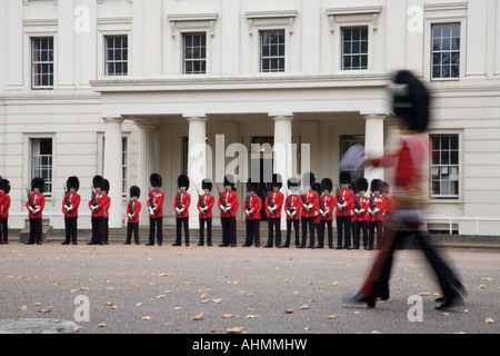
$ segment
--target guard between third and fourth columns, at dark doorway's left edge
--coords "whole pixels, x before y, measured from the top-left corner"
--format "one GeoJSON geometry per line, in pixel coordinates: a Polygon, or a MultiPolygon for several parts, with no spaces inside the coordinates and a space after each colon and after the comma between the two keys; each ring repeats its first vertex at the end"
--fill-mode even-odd
{"type": "Polygon", "coordinates": [[[244,240],[243,247],[256,245],[260,247],[260,209],[262,209],[262,199],[257,196],[257,189],[259,185],[252,182],[251,178],[247,182],[248,196],[244,199],[243,211],[244,220],[247,224],[247,239],[244,240]]]}

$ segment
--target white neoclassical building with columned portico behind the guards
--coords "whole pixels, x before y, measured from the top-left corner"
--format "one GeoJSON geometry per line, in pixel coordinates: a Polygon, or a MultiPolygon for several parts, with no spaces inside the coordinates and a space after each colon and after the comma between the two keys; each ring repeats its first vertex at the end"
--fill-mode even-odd
{"type": "Polygon", "coordinates": [[[177,177],[200,159],[200,175],[219,187],[234,166],[242,177],[267,164],[300,175],[306,157],[318,179],[334,179],[350,146],[370,156],[391,149],[386,87],[399,69],[433,96],[429,208],[443,219],[429,227],[462,217],[453,231],[499,235],[496,221],[467,220],[500,218],[496,0],[1,1],[0,175],[12,185],[10,226],[24,226],[23,186],[38,175],[57,228],[71,175],[81,181],[83,228],[97,174],[111,184],[111,227],[123,224],[131,185],[146,204],[153,171],[172,224],[177,177]],[[297,150],[273,159],[264,144],[297,150]]]}

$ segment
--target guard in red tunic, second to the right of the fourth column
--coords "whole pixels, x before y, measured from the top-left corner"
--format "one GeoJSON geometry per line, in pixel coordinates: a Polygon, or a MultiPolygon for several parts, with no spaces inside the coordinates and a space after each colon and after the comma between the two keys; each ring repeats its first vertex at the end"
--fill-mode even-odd
{"type": "Polygon", "coordinates": [[[314,248],[314,219],[318,215],[319,204],[318,194],[312,190],[316,184],[316,176],[313,172],[306,172],[302,177],[302,186],[304,191],[301,195],[301,210],[300,210],[300,224],[302,225],[302,241],[298,248],[304,248],[309,228],[309,245],[308,248],[314,248]]]}

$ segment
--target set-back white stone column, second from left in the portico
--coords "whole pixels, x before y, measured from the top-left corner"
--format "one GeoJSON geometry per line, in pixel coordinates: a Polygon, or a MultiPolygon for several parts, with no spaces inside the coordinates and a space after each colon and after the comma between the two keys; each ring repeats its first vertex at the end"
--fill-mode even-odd
{"type": "Polygon", "coordinates": [[[141,214],[140,214],[140,226],[149,226],[149,214],[147,206],[147,198],[149,194],[149,177],[153,172],[153,160],[154,160],[154,132],[158,127],[156,125],[138,123],[137,125],[140,132],[139,141],[139,188],[141,189],[140,201],[142,202],[141,214]]]}

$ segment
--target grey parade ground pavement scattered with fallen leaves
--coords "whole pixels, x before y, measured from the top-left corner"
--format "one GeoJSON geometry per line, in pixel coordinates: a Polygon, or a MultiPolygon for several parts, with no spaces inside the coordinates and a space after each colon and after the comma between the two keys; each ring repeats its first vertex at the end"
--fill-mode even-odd
{"type": "Polygon", "coordinates": [[[498,334],[500,250],[440,253],[468,290],[453,310],[434,309],[439,286],[418,249],[397,251],[391,298],[370,309],[347,298],[377,250],[12,241],[0,246],[0,319],[72,320],[92,335],[498,334]],[[421,322],[409,320],[411,298],[421,322]]]}

